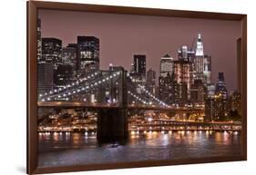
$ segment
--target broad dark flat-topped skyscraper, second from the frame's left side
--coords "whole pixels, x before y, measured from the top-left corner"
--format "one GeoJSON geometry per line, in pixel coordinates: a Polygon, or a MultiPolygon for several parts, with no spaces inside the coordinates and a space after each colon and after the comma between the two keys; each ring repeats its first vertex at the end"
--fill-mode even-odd
{"type": "Polygon", "coordinates": [[[57,38],[42,38],[42,62],[53,63],[56,69],[62,63],[62,41],[57,38]]]}

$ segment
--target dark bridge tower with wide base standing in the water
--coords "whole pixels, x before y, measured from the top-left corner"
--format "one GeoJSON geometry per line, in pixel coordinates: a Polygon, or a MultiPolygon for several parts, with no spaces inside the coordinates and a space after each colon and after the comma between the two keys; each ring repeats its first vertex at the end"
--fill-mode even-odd
{"type": "Polygon", "coordinates": [[[122,142],[128,139],[128,91],[127,72],[120,70],[118,107],[100,109],[97,117],[98,142],[122,142]]]}

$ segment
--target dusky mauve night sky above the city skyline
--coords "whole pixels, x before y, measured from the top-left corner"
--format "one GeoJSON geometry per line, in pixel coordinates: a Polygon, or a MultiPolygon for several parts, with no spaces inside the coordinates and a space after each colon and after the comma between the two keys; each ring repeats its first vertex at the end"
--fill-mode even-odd
{"type": "Polygon", "coordinates": [[[212,82],[223,72],[229,92],[237,87],[240,22],[58,10],[39,10],[39,18],[42,37],[61,39],[63,46],[77,43],[77,35],[99,38],[100,69],[108,69],[108,64],[113,63],[129,70],[133,54],[143,53],[147,55],[147,70],[152,68],[158,76],[160,58],[169,53],[176,59],[177,50],[184,44],[191,47],[200,33],[204,53],[211,55],[212,82]]]}

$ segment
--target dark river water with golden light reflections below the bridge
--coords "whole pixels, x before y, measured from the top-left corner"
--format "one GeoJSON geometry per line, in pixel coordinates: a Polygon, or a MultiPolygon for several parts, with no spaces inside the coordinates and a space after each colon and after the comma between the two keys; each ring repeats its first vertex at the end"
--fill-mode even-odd
{"type": "Polygon", "coordinates": [[[38,141],[41,167],[241,154],[241,133],[225,131],[135,131],[127,144],[115,147],[99,147],[96,133],[38,133],[38,141]]]}

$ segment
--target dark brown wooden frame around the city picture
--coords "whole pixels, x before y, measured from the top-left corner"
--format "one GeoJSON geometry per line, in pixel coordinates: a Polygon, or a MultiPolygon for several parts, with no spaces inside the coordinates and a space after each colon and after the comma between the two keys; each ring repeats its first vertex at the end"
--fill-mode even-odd
{"type": "Polygon", "coordinates": [[[35,173],[54,173],[80,170],[107,170],[107,169],[123,169],[135,167],[150,167],[150,166],[166,166],[191,163],[206,163],[220,161],[235,161],[247,160],[247,15],[238,14],[222,14],[210,12],[194,12],[194,11],[179,11],[154,8],[138,8],[110,5],[85,5],[71,3],[54,3],[42,1],[27,1],[27,158],[26,172],[28,174],[35,173]],[[160,15],[172,17],[186,18],[201,18],[201,19],[219,19],[241,21],[241,60],[238,60],[239,85],[241,87],[241,103],[242,103],[242,154],[241,156],[232,157],[213,157],[199,159],[184,159],[184,160],[147,160],[139,162],[126,162],[115,164],[91,164],[84,166],[68,166],[54,168],[39,168],[37,167],[37,95],[36,95],[36,19],[38,9],[53,9],[53,10],[68,10],[68,11],[83,11],[97,13],[113,13],[113,14],[132,14],[132,15],[160,15]]]}

